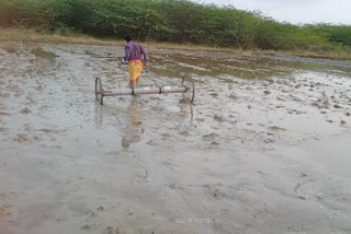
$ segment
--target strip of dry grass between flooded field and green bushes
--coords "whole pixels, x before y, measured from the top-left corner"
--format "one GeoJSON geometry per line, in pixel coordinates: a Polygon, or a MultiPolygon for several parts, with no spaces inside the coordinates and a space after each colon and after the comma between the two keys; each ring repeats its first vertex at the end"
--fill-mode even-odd
{"type": "MultiPolygon", "coordinates": [[[[47,44],[83,44],[83,45],[101,45],[101,46],[123,46],[123,40],[117,39],[101,39],[82,34],[65,33],[64,35],[57,31],[56,33],[38,33],[34,30],[24,28],[3,28],[0,27],[0,43],[3,44],[3,48],[8,52],[14,52],[15,46],[13,43],[47,43],[47,44]]],[[[265,54],[265,55],[287,55],[298,56],[306,58],[324,58],[324,59],[341,59],[351,60],[351,49],[348,50],[319,50],[318,52],[307,50],[261,50],[261,49],[234,49],[234,48],[215,48],[206,45],[193,45],[193,44],[170,44],[158,42],[143,43],[145,47],[156,49],[174,49],[174,50],[191,50],[191,51],[211,51],[211,52],[252,52],[252,54],[265,54]]]]}

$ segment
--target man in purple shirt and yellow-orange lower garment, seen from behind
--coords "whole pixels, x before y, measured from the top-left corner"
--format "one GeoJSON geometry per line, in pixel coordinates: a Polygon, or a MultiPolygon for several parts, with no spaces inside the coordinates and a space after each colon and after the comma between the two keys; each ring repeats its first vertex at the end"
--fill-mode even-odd
{"type": "Polygon", "coordinates": [[[118,62],[118,66],[128,63],[131,87],[134,89],[136,84],[137,86],[139,84],[139,78],[143,70],[141,56],[144,56],[145,67],[148,67],[147,55],[141,45],[133,43],[133,37],[131,35],[126,35],[124,39],[126,42],[126,45],[124,46],[125,56],[123,61],[118,62]]]}

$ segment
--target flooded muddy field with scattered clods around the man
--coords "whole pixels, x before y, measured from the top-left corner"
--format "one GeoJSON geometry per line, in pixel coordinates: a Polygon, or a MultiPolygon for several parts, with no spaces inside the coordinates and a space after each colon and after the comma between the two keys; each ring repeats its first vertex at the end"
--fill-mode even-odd
{"type": "Polygon", "coordinates": [[[148,49],[0,44],[0,233],[351,233],[351,65],[148,49]]]}

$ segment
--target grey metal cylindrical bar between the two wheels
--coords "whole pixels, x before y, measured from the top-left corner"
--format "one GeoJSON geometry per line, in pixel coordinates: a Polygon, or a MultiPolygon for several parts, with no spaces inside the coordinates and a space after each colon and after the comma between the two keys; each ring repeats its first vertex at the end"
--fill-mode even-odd
{"type": "Polygon", "coordinates": [[[134,92],[131,87],[122,87],[104,91],[104,96],[120,96],[133,94],[161,94],[161,93],[185,93],[186,86],[162,86],[162,87],[135,87],[134,92]]]}

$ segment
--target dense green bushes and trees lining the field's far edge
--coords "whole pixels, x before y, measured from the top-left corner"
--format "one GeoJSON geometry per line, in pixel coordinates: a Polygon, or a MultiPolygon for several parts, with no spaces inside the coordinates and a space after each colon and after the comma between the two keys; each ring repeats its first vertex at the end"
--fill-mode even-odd
{"type": "Polygon", "coordinates": [[[0,0],[0,25],[59,35],[212,47],[351,54],[351,26],[292,25],[259,12],[188,0],[0,0]]]}

